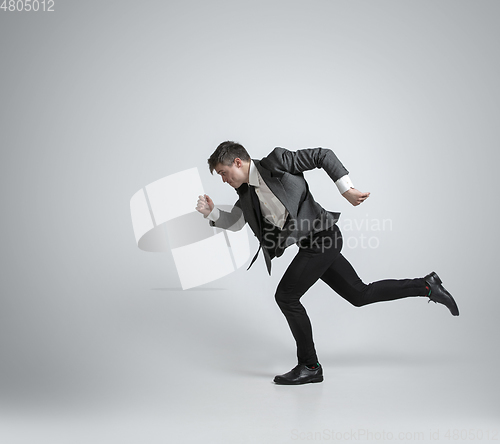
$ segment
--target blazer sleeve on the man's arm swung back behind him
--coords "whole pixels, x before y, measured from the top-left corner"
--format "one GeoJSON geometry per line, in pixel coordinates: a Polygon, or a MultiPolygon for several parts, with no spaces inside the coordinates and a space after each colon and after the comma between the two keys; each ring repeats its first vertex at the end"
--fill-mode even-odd
{"type": "Polygon", "coordinates": [[[301,174],[315,168],[323,168],[336,182],[349,174],[335,153],[328,148],[307,148],[289,151],[285,148],[275,148],[261,163],[271,171],[301,174]]]}

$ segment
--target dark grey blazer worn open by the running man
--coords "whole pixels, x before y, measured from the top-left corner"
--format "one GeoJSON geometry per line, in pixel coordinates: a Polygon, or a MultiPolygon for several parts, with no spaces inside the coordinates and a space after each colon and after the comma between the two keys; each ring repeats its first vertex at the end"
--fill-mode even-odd
{"type": "MultiPolygon", "coordinates": [[[[308,148],[296,152],[275,148],[267,157],[260,161],[253,160],[253,162],[264,182],[289,213],[280,235],[279,244],[270,248],[263,242],[262,224],[255,213],[250,190],[246,183],[236,190],[239,199],[231,212],[220,210],[219,219],[216,222],[211,221],[210,224],[235,231],[241,229],[245,222],[248,223],[259,239],[268,272],[271,273],[271,259],[273,257],[281,256],[285,248],[299,240],[331,227],[340,217],[340,213],[326,211],[314,200],[303,172],[314,168],[323,168],[333,181],[337,181],[349,172],[333,151],[326,148],[308,148]]],[[[250,266],[255,261],[257,254],[250,266]]]]}

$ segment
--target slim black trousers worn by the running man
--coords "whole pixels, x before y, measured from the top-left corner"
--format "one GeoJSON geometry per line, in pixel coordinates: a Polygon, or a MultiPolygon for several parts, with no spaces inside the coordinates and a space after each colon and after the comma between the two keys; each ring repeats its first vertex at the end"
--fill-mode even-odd
{"type": "Polygon", "coordinates": [[[286,317],[297,343],[299,364],[318,361],[311,322],[300,303],[302,295],[318,280],[356,307],[408,296],[425,296],[423,278],[387,279],[365,284],[342,256],[342,235],[337,225],[299,243],[299,252],[276,289],[276,302],[286,317]]]}

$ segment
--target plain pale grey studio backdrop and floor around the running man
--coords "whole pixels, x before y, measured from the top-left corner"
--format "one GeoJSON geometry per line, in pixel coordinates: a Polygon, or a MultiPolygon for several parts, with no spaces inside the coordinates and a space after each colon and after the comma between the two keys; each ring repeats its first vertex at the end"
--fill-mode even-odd
{"type": "Polygon", "coordinates": [[[485,0],[0,10],[0,442],[500,439],[499,14],[485,0]],[[271,277],[259,258],[182,291],[172,255],[132,231],[131,196],[188,168],[233,203],[206,167],[228,139],[255,158],[332,148],[371,197],[355,208],[323,171],[306,177],[342,212],[363,280],[436,270],[460,317],[422,298],[355,308],[320,282],[303,302],[325,381],[274,386],[295,365],[274,302],[293,248],[271,277]]]}

